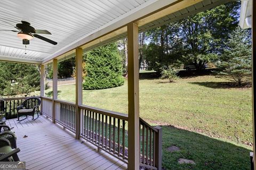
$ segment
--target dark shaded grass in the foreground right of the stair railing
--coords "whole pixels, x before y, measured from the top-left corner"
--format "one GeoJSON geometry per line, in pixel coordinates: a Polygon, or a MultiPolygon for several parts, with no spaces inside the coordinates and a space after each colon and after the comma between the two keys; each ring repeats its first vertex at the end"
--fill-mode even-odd
{"type": "Polygon", "coordinates": [[[164,169],[250,169],[250,149],[173,126],[162,128],[164,169]],[[180,151],[167,151],[171,146],[180,151]],[[179,158],[196,164],[178,164],[179,158]]]}

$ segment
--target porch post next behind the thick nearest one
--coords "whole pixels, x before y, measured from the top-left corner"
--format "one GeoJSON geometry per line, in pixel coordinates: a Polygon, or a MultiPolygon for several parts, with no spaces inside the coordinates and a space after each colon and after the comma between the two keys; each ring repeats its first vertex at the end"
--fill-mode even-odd
{"type": "Polygon", "coordinates": [[[81,109],[79,105],[83,104],[83,49],[76,48],[76,139],[79,139],[81,127],[81,109]]]}

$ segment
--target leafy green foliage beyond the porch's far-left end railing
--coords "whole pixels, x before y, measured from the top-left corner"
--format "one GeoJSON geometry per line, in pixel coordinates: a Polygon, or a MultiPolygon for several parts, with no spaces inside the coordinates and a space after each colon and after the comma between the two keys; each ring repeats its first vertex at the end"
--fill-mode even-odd
{"type": "Polygon", "coordinates": [[[0,62],[0,95],[19,95],[39,89],[40,74],[36,65],[0,62]]]}

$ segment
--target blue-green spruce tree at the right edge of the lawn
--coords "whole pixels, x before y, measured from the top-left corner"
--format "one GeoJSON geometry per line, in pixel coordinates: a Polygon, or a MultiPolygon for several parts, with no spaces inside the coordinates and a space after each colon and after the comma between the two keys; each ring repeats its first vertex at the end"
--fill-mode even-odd
{"type": "Polygon", "coordinates": [[[251,79],[251,36],[249,30],[237,27],[230,35],[217,65],[221,77],[234,81],[238,86],[251,79]]]}

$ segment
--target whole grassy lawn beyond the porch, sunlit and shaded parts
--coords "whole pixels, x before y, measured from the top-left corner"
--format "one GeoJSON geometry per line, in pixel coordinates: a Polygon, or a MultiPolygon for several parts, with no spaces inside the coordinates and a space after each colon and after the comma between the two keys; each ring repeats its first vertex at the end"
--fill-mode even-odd
{"type": "MultiPolygon", "coordinates": [[[[166,169],[250,169],[252,142],[251,89],[226,88],[213,76],[140,80],[140,116],[163,126],[163,165],[166,169]],[[179,152],[167,152],[172,145],[179,152]],[[178,165],[179,158],[196,165],[178,165]]],[[[59,86],[58,97],[75,101],[75,85],[59,86]]],[[[51,91],[46,90],[46,92],[51,91]]],[[[83,104],[127,113],[124,86],[84,90],[83,104]]]]}

